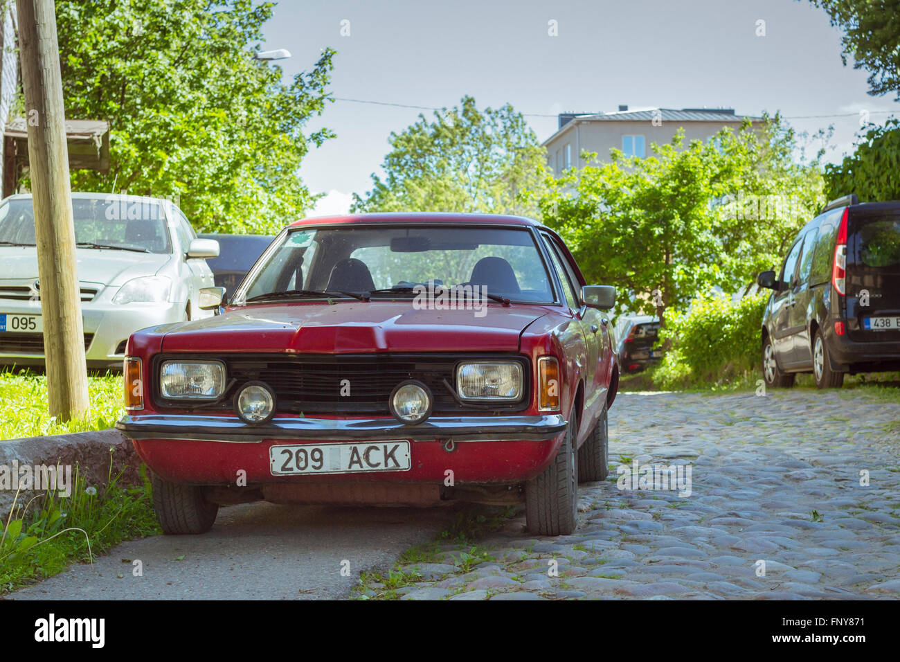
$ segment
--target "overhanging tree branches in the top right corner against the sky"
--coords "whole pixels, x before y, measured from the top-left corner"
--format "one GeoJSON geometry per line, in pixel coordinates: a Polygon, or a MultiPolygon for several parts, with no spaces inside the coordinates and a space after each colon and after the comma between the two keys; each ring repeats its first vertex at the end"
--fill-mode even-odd
{"type": "Polygon", "coordinates": [[[810,0],[844,31],[841,59],[869,71],[869,94],[900,101],[900,0],[810,0]]]}

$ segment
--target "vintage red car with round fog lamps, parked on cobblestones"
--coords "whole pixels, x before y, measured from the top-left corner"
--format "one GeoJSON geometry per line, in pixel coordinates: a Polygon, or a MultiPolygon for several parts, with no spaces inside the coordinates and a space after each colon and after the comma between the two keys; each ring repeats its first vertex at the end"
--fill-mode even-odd
{"type": "Polygon", "coordinates": [[[607,476],[619,367],[559,236],[516,216],[363,214],[285,228],[220,314],[138,331],[116,427],[166,533],[220,504],[526,504],[571,533],[607,476]]]}

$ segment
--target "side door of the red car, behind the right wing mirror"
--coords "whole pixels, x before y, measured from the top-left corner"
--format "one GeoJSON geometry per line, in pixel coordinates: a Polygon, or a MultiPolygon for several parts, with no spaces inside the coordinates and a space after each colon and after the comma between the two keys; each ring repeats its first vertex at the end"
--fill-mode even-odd
{"type": "Polygon", "coordinates": [[[574,269],[568,264],[568,259],[549,234],[542,232],[547,250],[550,253],[554,271],[563,286],[563,294],[569,305],[574,322],[580,329],[581,339],[584,342],[585,364],[582,375],[584,376],[584,414],[581,432],[590,430],[593,422],[600,413],[601,396],[606,394],[606,379],[599,369],[600,366],[600,339],[605,347],[608,343],[608,331],[606,324],[601,322],[601,315],[593,308],[581,304],[581,286],[575,276],[574,269]],[[602,329],[602,334],[599,335],[602,329]]]}

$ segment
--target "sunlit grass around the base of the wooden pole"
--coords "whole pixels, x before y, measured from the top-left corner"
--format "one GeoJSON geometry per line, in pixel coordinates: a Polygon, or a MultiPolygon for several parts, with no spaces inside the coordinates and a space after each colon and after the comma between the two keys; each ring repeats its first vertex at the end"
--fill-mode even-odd
{"type": "Polygon", "coordinates": [[[121,375],[88,376],[87,392],[90,412],[57,422],[48,415],[46,375],[27,368],[0,372],[0,441],[111,428],[122,413],[121,375]]]}

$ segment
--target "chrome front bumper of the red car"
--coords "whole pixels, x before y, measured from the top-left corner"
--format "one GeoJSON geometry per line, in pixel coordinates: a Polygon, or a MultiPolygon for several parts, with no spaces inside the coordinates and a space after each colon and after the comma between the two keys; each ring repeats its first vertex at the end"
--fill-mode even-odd
{"type": "Polygon", "coordinates": [[[257,442],[299,440],[552,440],[568,423],[561,414],[542,416],[435,416],[418,425],[394,419],[275,418],[250,425],[231,416],[125,415],[117,430],[132,440],[257,442]]]}

